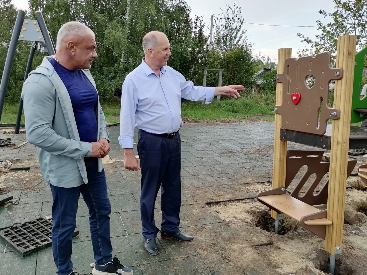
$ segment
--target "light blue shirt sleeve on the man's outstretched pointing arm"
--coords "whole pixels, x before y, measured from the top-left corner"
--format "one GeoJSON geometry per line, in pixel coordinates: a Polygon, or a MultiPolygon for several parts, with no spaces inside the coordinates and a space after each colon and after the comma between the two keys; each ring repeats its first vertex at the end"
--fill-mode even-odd
{"type": "Polygon", "coordinates": [[[175,71],[175,74],[180,82],[182,98],[191,101],[205,100],[205,104],[211,103],[215,87],[195,86],[192,81],[186,80],[181,73],[175,71]]]}

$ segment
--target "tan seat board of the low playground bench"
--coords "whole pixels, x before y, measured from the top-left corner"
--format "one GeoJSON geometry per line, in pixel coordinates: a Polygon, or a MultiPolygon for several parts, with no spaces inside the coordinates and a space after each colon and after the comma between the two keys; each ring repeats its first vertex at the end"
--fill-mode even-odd
{"type": "MultiPolygon", "coordinates": [[[[271,206],[272,208],[275,208],[279,210],[279,212],[282,212],[293,219],[300,221],[302,217],[315,214],[318,212],[321,212],[321,210],[308,205],[307,203],[304,203],[300,201],[299,199],[296,199],[294,197],[291,197],[288,194],[283,195],[267,195],[267,196],[261,196],[258,197],[259,200],[265,202],[267,205],[271,206]]],[[[304,222],[307,225],[328,225],[332,224],[332,222],[328,219],[322,218],[322,219],[315,219],[315,220],[307,220],[304,222]]]]}

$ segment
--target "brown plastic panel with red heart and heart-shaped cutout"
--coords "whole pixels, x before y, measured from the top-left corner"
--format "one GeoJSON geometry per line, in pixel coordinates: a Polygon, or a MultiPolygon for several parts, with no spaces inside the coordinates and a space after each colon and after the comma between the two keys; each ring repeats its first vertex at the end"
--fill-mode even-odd
{"type": "Polygon", "coordinates": [[[276,78],[276,82],[284,85],[283,103],[275,106],[275,113],[281,114],[283,129],[323,135],[327,120],[339,119],[340,110],[329,108],[327,102],[329,83],[341,79],[343,70],[331,68],[330,60],[329,52],[286,59],[284,72],[276,78]],[[309,76],[315,76],[311,88],[306,84],[309,76]]]}

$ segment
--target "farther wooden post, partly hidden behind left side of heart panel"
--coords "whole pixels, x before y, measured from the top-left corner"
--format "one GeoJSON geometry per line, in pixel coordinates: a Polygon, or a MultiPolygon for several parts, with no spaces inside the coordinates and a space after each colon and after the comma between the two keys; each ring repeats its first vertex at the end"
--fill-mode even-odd
{"type": "MultiPolygon", "coordinates": [[[[277,73],[284,72],[284,63],[288,57],[292,56],[291,48],[281,48],[278,50],[277,73]]],[[[283,103],[283,83],[276,84],[276,105],[283,103]]],[[[284,186],[286,182],[286,159],[287,159],[287,141],[279,138],[281,128],[281,115],[275,114],[274,127],[274,155],[273,155],[273,188],[284,186]]],[[[272,217],[278,219],[278,213],[272,210],[272,217]]]]}

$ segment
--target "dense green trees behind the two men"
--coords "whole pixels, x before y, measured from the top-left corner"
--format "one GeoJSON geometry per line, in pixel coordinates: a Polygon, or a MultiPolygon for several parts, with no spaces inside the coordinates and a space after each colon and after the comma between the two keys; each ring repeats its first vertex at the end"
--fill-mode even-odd
{"type": "MultiPolygon", "coordinates": [[[[8,43],[17,16],[11,0],[0,0],[0,72],[2,73],[8,43]]],[[[190,7],[184,0],[29,0],[26,18],[36,19],[34,11],[42,11],[48,30],[56,42],[59,28],[68,21],[79,21],[90,27],[96,36],[98,58],[92,62],[102,100],[109,100],[121,91],[124,78],[137,67],[144,56],[142,38],[151,30],[167,34],[172,56],[169,66],[181,72],[196,85],[203,84],[204,69],[224,69],[223,85],[250,85],[253,82],[254,60],[246,30],[239,29],[243,19],[235,9],[230,19],[233,28],[221,33],[222,50],[208,50],[208,36],[204,35],[203,17],[190,18],[190,7]]],[[[224,21],[225,22],[225,21],[224,21]]],[[[223,25],[228,26],[228,25],[223,25]]],[[[218,40],[216,40],[218,41],[218,40]]],[[[219,43],[219,42],[218,42],[219,43]]],[[[19,41],[11,70],[7,102],[18,102],[30,41],[19,41]]],[[[219,44],[218,44],[219,45],[219,44]]],[[[47,53],[36,52],[32,69],[47,53]]],[[[207,86],[218,85],[218,71],[210,71],[207,86]]]]}

